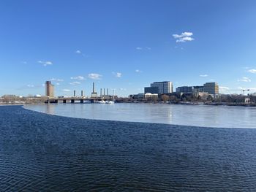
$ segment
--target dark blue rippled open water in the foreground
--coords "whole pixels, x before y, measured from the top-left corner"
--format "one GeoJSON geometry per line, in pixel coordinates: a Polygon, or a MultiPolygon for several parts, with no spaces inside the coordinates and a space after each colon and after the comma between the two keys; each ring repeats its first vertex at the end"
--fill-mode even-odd
{"type": "Polygon", "coordinates": [[[0,191],[255,191],[256,129],[0,107],[0,191]]]}

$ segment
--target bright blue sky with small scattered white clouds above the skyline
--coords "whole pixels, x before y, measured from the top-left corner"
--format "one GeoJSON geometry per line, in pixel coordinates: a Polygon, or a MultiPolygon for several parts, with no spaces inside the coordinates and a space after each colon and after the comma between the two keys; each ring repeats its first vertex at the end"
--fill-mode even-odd
{"type": "MultiPolygon", "coordinates": [[[[256,1],[0,1],[0,95],[218,82],[256,92],[256,1]]],[[[237,92],[241,93],[241,91],[237,92]]]]}

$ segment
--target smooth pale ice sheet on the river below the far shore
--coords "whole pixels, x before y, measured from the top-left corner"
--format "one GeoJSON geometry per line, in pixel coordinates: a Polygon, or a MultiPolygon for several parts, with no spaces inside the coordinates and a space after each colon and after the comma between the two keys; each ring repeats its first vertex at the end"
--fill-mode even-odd
{"type": "Polygon", "coordinates": [[[26,109],[73,118],[167,123],[184,126],[256,128],[256,107],[181,104],[42,104],[26,109]]]}

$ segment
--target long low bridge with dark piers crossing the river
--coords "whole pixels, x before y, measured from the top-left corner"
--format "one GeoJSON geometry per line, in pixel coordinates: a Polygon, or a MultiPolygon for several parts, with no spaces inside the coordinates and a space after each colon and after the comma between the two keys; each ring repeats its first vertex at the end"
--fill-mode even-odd
{"type": "Polygon", "coordinates": [[[106,101],[108,99],[104,99],[104,98],[85,98],[85,97],[58,97],[58,98],[48,98],[45,103],[46,104],[58,104],[58,103],[72,103],[74,104],[75,101],[79,101],[81,104],[83,104],[85,101],[90,101],[91,103],[94,103],[94,101],[106,101]]]}

